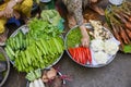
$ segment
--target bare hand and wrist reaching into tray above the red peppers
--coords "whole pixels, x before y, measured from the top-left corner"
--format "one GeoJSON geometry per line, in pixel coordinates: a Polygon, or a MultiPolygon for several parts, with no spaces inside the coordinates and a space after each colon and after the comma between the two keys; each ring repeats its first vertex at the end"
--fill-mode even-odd
{"type": "Polygon", "coordinates": [[[84,25],[80,26],[81,33],[82,33],[82,38],[81,38],[81,44],[83,47],[88,47],[90,46],[90,36],[86,32],[86,27],[84,25]]]}

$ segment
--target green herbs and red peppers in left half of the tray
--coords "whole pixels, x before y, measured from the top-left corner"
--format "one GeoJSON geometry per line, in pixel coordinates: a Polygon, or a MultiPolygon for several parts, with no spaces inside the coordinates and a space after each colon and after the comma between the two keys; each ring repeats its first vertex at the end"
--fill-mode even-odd
{"type": "Polygon", "coordinates": [[[88,48],[80,46],[81,38],[82,35],[80,29],[78,27],[72,29],[67,36],[67,46],[73,60],[84,65],[87,62],[92,63],[92,55],[90,53],[91,50],[88,48]]]}

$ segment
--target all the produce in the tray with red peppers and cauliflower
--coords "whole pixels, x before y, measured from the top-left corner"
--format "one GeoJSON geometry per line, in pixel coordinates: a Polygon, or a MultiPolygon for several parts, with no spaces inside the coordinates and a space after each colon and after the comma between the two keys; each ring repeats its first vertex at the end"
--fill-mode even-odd
{"type": "Polygon", "coordinates": [[[78,27],[71,29],[67,35],[67,49],[71,58],[82,64],[90,66],[105,65],[119,50],[119,41],[117,41],[111,33],[102,26],[99,21],[90,20],[87,32],[91,37],[88,48],[81,46],[81,32],[78,27]]]}

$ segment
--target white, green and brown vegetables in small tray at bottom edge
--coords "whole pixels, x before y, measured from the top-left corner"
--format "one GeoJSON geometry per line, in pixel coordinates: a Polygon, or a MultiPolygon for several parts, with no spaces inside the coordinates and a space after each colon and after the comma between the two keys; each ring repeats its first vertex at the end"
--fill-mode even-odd
{"type": "Polygon", "coordinates": [[[29,80],[27,87],[62,87],[62,75],[53,67],[44,71],[39,69],[26,75],[29,80]]]}

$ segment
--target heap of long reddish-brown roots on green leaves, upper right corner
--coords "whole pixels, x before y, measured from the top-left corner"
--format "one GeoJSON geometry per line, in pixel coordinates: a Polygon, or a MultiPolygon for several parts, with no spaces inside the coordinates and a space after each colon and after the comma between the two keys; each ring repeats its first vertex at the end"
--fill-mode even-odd
{"type": "Polygon", "coordinates": [[[131,53],[131,2],[126,1],[120,7],[107,8],[106,20],[114,36],[121,42],[121,49],[131,53]]]}

